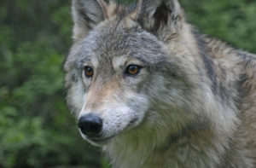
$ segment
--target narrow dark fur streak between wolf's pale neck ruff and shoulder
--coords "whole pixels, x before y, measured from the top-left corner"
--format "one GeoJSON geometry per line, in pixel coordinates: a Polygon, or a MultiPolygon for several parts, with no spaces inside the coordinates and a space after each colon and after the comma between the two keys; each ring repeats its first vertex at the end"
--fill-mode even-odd
{"type": "Polygon", "coordinates": [[[207,44],[205,41],[203,41],[200,34],[198,34],[197,32],[194,32],[194,34],[201,52],[202,60],[205,64],[205,67],[207,68],[207,76],[212,81],[212,92],[214,94],[217,94],[218,92],[217,78],[216,78],[216,73],[214,71],[213,61],[207,54],[207,44]]]}

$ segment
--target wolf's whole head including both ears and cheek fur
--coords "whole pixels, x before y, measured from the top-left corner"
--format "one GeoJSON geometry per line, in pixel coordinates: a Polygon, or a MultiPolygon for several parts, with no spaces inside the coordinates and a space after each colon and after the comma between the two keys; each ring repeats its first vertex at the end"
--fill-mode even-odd
{"type": "Polygon", "coordinates": [[[177,0],[73,0],[72,9],[67,101],[84,139],[104,145],[132,131],[181,129],[200,75],[177,0]]]}

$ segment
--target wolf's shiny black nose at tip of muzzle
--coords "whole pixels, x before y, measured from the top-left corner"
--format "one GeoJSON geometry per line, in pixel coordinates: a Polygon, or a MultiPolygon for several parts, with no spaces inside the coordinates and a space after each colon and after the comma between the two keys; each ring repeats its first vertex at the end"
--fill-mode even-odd
{"type": "Polygon", "coordinates": [[[79,119],[79,128],[86,136],[93,136],[102,131],[102,119],[89,113],[79,119]]]}

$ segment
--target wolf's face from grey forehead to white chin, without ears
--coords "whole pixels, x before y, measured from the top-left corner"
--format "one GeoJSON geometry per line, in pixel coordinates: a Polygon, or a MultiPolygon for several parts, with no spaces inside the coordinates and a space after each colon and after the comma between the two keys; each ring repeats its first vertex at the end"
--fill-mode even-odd
{"type": "Polygon", "coordinates": [[[72,53],[78,57],[76,71],[79,87],[84,90],[79,98],[83,101],[78,107],[79,118],[89,115],[102,119],[99,134],[80,129],[93,142],[102,142],[142,122],[149,107],[147,83],[151,76],[157,78],[164,61],[164,54],[159,52],[161,43],[138,26],[132,30],[104,28],[90,32],[72,53]]]}

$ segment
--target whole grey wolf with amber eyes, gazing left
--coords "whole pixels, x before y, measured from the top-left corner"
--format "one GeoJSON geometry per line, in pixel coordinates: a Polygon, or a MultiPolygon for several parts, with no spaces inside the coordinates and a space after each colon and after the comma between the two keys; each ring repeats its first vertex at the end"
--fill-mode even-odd
{"type": "Polygon", "coordinates": [[[67,103],[113,167],[256,167],[256,55],[196,32],[177,0],[73,0],[67,103]]]}

